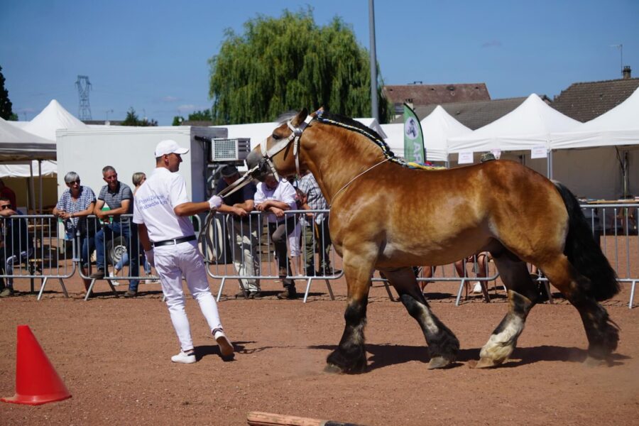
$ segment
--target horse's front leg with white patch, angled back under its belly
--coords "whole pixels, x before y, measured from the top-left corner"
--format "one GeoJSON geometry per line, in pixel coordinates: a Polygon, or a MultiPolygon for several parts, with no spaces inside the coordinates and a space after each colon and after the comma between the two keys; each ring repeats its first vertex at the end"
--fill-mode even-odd
{"type": "Polygon", "coordinates": [[[384,275],[397,290],[400,300],[411,317],[420,324],[428,351],[430,362],[428,368],[442,368],[455,361],[459,352],[459,340],[430,310],[424,295],[417,287],[415,273],[412,268],[384,270],[384,275]]]}

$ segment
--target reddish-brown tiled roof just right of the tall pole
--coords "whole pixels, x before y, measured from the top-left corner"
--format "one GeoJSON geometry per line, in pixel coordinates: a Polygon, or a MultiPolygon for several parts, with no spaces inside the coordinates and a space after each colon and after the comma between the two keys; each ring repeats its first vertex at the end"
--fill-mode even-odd
{"type": "Polygon", "coordinates": [[[386,85],[383,92],[391,104],[402,104],[408,102],[407,99],[413,99],[411,102],[415,107],[491,99],[485,83],[386,85]]]}

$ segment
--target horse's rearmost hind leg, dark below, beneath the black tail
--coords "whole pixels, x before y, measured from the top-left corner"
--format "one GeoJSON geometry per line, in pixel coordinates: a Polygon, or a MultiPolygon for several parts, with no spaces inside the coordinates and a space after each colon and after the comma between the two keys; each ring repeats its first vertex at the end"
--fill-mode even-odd
{"type": "Polygon", "coordinates": [[[581,275],[565,256],[546,265],[540,265],[552,285],[562,292],[579,311],[581,322],[588,337],[588,359],[586,364],[601,364],[615,349],[619,339],[619,329],[608,317],[606,309],[596,301],[589,289],[598,283],[581,275]]]}

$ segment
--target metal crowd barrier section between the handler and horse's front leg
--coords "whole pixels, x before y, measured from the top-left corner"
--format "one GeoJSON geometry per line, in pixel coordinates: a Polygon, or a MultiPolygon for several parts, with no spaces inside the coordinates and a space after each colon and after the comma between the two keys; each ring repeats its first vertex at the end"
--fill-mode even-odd
{"type": "Polygon", "coordinates": [[[246,218],[215,214],[200,247],[209,275],[221,280],[217,300],[229,279],[238,280],[241,291],[249,291],[258,288],[260,280],[284,278],[305,281],[304,302],[312,281],[324,280],[334,300],[330,280],[343,273],[335,267],[339,256],[330,239],[328,213],[326,209],[288,210],[280,218],[263,212],[251,212],[246,218]],[[286,258],[280,260],[284,252],[286,258]]]}

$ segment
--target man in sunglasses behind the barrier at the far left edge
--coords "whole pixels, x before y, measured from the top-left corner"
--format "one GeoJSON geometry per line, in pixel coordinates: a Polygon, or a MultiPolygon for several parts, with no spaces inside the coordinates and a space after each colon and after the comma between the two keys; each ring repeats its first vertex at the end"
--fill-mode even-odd
{"type": "MultiPolygon", "coordinates": [[[[28,224],[26,219],[14,217],[18,212],[13,209],[9,198],[0,197],[0,226],[2,241],[0,247],[0,275],[13,275],[13,265],[18,261],[26,261],[33,253],[29,244],[28,224]]],[[[0,278],[0,297],[13,295],[13,278],[0,278]]]]}

